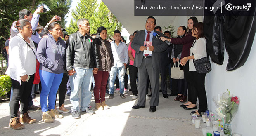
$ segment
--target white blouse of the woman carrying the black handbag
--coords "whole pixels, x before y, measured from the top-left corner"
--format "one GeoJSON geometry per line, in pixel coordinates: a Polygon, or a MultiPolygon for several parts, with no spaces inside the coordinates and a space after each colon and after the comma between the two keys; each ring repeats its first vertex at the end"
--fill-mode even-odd
{"type": "MultiPolygon", "coordinates": [[[[190,56],[193,56],[194,59],[201,59],[207,56],[206,52],[206,39],[205,38],[199,38],[197,40],[194,40],[193,42],[194,46],[190,48],[190,56]],[[193,54],[192,54],[193,53],[193,54]]],[[[197,71],[194,67],[193,59],[189,60],[189,71],[197,71]]]]}

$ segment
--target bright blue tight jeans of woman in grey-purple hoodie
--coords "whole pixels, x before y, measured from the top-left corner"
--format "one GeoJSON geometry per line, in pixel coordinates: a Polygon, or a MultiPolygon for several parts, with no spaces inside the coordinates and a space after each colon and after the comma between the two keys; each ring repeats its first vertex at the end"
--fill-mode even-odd
{"type": "Polygon", "coordinates": [[[55,74],[44,70],[39,70],[42,91],[40,93],[40,104],[42,112],[54,109],[56,94],[59,89],[59,84],[62,82],[63,73],[55,74]],[[47,107],[48,99],[48,107],[47,107]]]}

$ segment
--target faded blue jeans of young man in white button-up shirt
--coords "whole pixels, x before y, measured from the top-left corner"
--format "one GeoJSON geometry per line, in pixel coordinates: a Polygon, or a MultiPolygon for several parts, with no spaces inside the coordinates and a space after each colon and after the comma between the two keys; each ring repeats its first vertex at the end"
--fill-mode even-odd
{"type": "Polygon", "coordinates": [[[111,68],[111,70],[109,72],[110,94],[114,94],[114,84],[115,84],[115,80],[116,80],[116,73],[118,73],[120,93],[123,94],[125,71],[126,71],[126,69],[124,68],[124,66],[118,68],[116,64],[111,68]]]}

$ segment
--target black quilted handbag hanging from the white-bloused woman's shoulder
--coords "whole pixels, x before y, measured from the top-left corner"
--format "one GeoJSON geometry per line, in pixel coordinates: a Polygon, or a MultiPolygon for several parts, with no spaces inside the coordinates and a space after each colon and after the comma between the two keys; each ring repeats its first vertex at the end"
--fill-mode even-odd
{"type": "MultiPolygon", "coordinates": [[[[194,43],[196,43],[196,42],[194,42],[194,43]]],[[[194,44],[193,44],[193,46],[194,46],[194,44]]],[[[211,63],[209,61],[209,54],[208,53],[207,53],[207,57],[197,59],[197,60],[193,59],[193,63],[194,63],[194,66],[197,70],[197,73],[199,73],[199,74],[206,74],[206,73],[209,73],[211,71],[211,63]]]]}

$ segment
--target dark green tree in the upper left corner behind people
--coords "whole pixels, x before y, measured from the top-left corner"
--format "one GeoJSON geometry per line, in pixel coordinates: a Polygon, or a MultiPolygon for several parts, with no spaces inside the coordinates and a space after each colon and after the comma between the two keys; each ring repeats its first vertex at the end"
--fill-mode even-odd
{"type": "MultiPolygon", "coordinates": [[[[66,14],[72,0],[0,0],[0,52],[4,47],[5,41],[10,37],[10,28],[14,21],[19,19],[19,11],[22,9],[31,10],[32,13],[39,5],[45,5],[50,10],[47,13],[40,13],[39,23],[45,26],[54,15],[62,17],[61,26],[65,26],[66,14]]],[[[1,61],[0,56],[0,63],[1,61]]],[[[2,67],[2,66],[1,66],[2,67]]]]}

